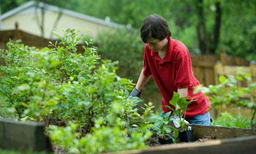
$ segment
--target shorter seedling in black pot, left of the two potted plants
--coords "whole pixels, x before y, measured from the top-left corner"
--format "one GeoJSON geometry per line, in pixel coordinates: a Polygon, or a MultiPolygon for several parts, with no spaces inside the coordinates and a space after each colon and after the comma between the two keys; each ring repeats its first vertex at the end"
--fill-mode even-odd
{"type": "Polygon", "coordinates": [[[155,123],[151,126],[151,130],[159,136],[158,141],[160,144],[176,143],[176,138],[179,135],[179,131],[175,127],[168,126],[170,114],[171,111],[166,113],[164,118],[159,116],[153,118],[155,123]],[[172,135],[170,135],[171,133],[172,135]]]}

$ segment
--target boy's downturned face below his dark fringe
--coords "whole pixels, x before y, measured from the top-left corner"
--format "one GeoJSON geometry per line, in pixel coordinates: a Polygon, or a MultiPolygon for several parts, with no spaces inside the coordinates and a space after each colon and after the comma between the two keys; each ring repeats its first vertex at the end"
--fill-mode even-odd
{"type": "Polygon", "coordinates": [[[151,37],[147,39],[146,43],[149,45],[150,49],[154,50],[154,52],[164,51],[167,49],[168,46],[167,37],[165,37],[163,40],[151,37]]]}

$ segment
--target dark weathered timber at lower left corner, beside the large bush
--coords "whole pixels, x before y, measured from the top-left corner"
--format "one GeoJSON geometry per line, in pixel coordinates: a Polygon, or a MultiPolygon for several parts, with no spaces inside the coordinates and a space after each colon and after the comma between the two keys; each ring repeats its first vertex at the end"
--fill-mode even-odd
{"type": "Polygon", "coordinates": [[[0,119],[0,147],[53,151],[49,137],[44,134],[43,123],[16,122],[7,119],[0,119]]]}

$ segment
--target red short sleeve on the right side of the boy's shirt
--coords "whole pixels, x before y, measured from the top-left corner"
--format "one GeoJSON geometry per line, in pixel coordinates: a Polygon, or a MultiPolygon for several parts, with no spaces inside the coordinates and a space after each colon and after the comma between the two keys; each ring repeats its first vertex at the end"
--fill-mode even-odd
{"type": "Polygon", "coordinates": [[[175,87],[183,88],[192,86],[192,66],[191,59],[189,56],[182,56],[176,62],[176,78],[175,78],[175,87]]]}

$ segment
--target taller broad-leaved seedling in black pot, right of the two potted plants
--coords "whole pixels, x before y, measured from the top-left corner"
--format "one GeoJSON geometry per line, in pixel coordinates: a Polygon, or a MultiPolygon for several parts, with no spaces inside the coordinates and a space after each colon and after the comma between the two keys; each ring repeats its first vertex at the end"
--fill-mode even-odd
{"type": "Polygon", "coordinates": [[[193,130],[191,130],[191,127],[189,126],[188,130],[186,130],[184,128],[185,119],[183,117],[185,117],[185,115],[186,115],[186,110],[189,109],[189,108],[187,108],[187,106],[191,102],[194,101],[193,99],[191,99],[190,101],[186,101],[187,98],[188,97],[180,98],[180,94],[177,93],[177,92],[174,92],[172,100],[169,103],[173,106],[179,106],[179,107],[176,107],[176,109],[174,109],[170,106],[166,106],[166,107],[170,108],[173,111],[173,114],[169,119],[171,121],[173,121],[173,123],[179,123],[180,124],[181,132],[179,133],[178,138],[181,140],[181,142],[193,142],[193,141],[195,141],[193,130]]]}

